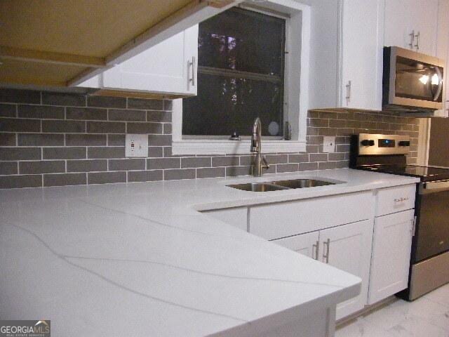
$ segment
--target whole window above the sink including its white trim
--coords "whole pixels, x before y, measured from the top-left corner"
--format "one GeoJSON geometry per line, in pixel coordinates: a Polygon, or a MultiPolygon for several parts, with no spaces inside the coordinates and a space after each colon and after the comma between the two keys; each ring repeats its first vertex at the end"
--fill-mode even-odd
{"type": "Polygon", "coordinates": [[[257,116],[264,152],[306,150],[310,13],[297,1],[264,0],[200,23],[199,96],[173,100],[173,154],[248,154],[257,116]],[[233,131],[242,140],[229,140],[233,131]]]}

